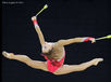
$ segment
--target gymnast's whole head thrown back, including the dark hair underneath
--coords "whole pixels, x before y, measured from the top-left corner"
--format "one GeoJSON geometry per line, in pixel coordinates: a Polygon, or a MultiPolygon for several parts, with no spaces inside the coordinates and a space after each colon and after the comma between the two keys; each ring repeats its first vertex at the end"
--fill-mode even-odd
{"type": "Polygon", "coordinates": [[[53,49],[53,44],[54,43],[52,43],[52,42],[45,42],[45,44],[42,45],[42,53],[50,54],[53,49]]]}

